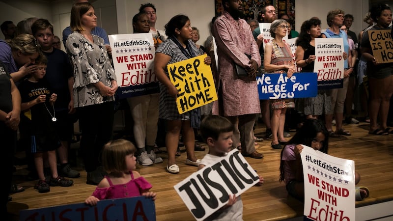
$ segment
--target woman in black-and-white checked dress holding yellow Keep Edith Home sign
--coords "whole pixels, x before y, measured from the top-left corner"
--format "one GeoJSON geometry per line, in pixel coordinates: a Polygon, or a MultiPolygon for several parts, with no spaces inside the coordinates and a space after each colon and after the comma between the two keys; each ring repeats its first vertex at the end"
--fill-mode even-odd
{"type": "MultiPolygon", "coordinates": [[[[168,64],[183,61],[199,55],[197,46],[191,40],[192,27],[190,19],[185,15],[176,15],[165,25],[165,33],[168,39],[158,46],[154,59],[154,72],[160,81],[159,118],[167,120],[167,135],[165,143],[168,149],[169,173],[178,173],[179,166],[176,165],[175,155],[179,143],[180,131],[187,150],[186,164],[198,166],[200,160],[194,152],[195,135],[192,123],[198,123],[193,111],[179,114],[176,105],[176,97],[179,91],[170,82],[168,64]],[[193,121],[193,122],[192,122],[193,121]]],[[[211,58],[207,56],[204,60],[207,65],[211,64],[211,58]]]]}

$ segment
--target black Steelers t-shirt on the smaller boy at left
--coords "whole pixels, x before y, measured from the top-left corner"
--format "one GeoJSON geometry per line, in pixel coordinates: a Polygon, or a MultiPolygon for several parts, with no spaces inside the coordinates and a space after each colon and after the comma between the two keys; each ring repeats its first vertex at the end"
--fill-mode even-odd
{"type": "Polygon", "coordinates": [[[21,134],[39,135],[54,133],[52,117],[55,115],[49,102],[53,92],[49,89],[48,83],[44,79],[37,83],[25,80],[19,84],[18,88],[21,93],[22,103],[32,101],[42,94],[46,95],[44,103],[36,104],[29,110],[21,111],[21,123],[19,125],[21,134]]]}

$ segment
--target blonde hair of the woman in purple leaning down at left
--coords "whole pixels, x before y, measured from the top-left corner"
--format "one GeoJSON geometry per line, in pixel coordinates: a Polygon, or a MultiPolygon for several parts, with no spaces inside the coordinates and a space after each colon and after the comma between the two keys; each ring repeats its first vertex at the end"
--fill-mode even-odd
{"type": "Polygon", "coordinates": [[[13,51],[21,51],[23,54],[29,55],[37,52],[41,54],[40,45],[31,34],[19,34],[8,41],[8,44],[13,51]]]}

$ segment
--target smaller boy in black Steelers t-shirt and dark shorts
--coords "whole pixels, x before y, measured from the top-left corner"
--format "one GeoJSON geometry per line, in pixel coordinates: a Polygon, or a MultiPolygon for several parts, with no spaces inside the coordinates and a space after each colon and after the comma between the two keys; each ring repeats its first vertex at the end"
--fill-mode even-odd
{"type": "Polygon", "coordinates": [[[50,186],[68,187],[74,183],[57,173],[56,149],[60,146],[54,127],[57,120],[54,108],[57,95],[51,93],[48,83],[43,80],[47,62],[45,56],[39,56],[35,62],[38,70],[19,84],[22,98],[20,133],[30,137],[28,148],[34,157],[39,178],[35,188],[39,193],[49,192],[50,186]],[[44,154],[48,155],[52,172],[49,180],[44,175],[44,154]]]}

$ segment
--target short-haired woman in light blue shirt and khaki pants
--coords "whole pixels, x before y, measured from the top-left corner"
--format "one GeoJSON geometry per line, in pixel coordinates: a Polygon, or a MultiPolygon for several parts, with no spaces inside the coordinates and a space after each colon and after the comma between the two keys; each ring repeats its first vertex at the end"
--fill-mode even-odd
{"type": "Polygon", "coordinates": [[[331,89],[332,110],[336,118],[336,132],[333,132],[332,129],[333,114],[325,115],[326,128],[329,131],[330,137],[334,138],[341,137],[341,135],[351,135],[349,131],[342,128],[344,101],[348,90],[349,75],[353,72],[352,56],[349,53],[348,36],[345,31],[340,30],[340,27],[344,22],[344,14],[345,12],[341,9],[329,11],[326,18],[329,28],[327,28],[321,35],[323,38],[342,38],[344,45],[344,83],[342,88],[331,89]]]}

